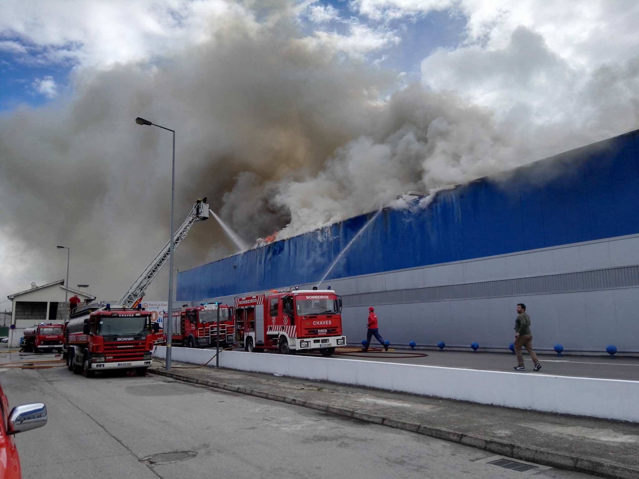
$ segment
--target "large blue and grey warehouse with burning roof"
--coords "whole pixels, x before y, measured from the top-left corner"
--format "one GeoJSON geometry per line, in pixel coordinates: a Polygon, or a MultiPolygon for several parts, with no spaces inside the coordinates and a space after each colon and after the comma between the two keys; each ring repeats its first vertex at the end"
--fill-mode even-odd
{"type": "Polygon", "coordinates": [[[343,296],[349,342],[367,308],[393,344],[508,350],[517,303],[535,349],[639,353],[639,130],[178,273],[178,301],[316,285],[343,296]]]}

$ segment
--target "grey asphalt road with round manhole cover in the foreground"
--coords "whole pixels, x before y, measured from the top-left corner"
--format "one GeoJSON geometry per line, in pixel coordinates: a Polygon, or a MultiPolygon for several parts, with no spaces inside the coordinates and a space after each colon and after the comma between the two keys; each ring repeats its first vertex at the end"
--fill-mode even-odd
{"type": "Polygon", "coordinates": [[[523,476],[481,464],[491,454],[468,446],[159,376],[86,379],[58,367],[4,368],[0,378],[12,406],[44,402],[49,412],[47,425],[17,436],[25,478],[523,476]],[[150,461],[164,453],[177,454],[150,461]]]}

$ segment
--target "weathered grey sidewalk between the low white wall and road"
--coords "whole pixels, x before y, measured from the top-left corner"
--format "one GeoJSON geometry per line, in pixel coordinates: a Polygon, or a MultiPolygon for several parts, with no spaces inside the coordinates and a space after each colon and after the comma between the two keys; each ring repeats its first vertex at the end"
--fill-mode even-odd
{"type": "MultiPolygon", "coordinates": [[[[173,366],[190,367],[186,363],[173,366]]],[[[639,424],[537,413],[212,367],[152,374],[410,430],[545,466],[639,478],[639,424]]]]}

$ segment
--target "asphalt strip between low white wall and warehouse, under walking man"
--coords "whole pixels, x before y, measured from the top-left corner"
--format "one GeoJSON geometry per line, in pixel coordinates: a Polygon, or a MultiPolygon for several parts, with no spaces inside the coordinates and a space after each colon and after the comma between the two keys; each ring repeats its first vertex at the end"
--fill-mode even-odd
{"type": "MultiPolygon", "coordinates": [[[[312,354],[319,355],[319,353],[312,354]]],[[[610,356],[557,356],[557,354],[538,354],[538,356],[542,365],[540,372],[544,374],[639,381],[639,357],[618,356],[612,359],[610,356]]],[[[481,351],[473,353],[472,351],[391,349],[385,352],[382,349],[374,353],[369,350],[369,353],[334,354],[332,357],[507,372],[512,372],[512,368],[517,365],[517,358],[514,354],[483,353],[481,351]],[[420,357],[419,353],[426,353],[428,356],[420,357]],[[408,355],[408,357],[394,358],[398,355],[408,355]]],[[[532,370],[532,360],[528,354],[525,353],[523,358],[526,371],[522,374],[535,374],[532,370]]]]}

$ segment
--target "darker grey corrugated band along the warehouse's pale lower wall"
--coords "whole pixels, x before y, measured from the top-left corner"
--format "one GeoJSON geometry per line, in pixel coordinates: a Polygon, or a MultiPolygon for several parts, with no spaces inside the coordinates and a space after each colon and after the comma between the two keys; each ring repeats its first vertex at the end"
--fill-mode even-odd
{"type": "Polygon", "coordinates": [[[639,286],[639,266],[478,283],[348,294],[344,307],[473,300],[524,294],[577,293],[639,286]]]}

